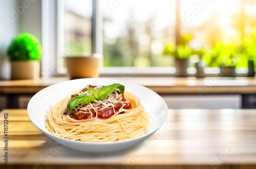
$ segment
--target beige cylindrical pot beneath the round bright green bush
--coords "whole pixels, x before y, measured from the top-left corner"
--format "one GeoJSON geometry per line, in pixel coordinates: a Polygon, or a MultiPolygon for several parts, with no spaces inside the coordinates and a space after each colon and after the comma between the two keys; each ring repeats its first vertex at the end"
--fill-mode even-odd
{"type": "Polygon", "coordinates": [[[39,61],[12,61],[11,79],[36,79],[40,77],[39,61]]]}

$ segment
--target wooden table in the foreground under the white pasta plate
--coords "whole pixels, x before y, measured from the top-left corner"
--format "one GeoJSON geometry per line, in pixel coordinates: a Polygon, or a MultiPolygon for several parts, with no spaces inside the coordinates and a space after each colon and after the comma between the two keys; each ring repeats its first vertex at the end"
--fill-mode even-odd
{"type": "MultiPolygon", "coordinates": [[[[57,144],[26,109],[0,112],[1,139],[7,114],[9,168],[256,168],[255,109],[170,109],[165,124],[142,143],[105,154],[57,144]]],[[[0,168],[7,168],[4,147],[1,141],[0,168]]]]}

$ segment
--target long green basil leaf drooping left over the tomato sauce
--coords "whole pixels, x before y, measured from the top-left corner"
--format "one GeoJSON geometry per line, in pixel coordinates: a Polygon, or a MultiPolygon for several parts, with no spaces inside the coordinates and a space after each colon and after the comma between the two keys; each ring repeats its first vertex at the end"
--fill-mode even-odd
{"type": "Polygon", "coordinates": [[[70,111],[73,110],[73,108],[75,108],[75,106],[81,103],[86,103],[86,102],[95,101],[95,100],[96,99],[90,95],[79,95],[79,96],[73,97],[72,99],[70,99],[67,105],[68,115],[70,114],[70,111]]]}

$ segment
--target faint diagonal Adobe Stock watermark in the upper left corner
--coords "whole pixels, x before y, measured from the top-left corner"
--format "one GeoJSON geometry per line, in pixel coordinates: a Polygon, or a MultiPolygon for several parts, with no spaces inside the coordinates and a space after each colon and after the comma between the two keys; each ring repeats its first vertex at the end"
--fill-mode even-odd
{"type": "Polygon", "coordinates": [[[16,19],[19,18],[20,14],[23,14],[26,9],[28,9],[31,6],[31,3],[35,2],[36,0],[20,0],[19,5],[16,10],[11,9],[11,16],[5,16],[4,20],[8,27],[10,27],[10,24],[13,23],[16,19]]]}

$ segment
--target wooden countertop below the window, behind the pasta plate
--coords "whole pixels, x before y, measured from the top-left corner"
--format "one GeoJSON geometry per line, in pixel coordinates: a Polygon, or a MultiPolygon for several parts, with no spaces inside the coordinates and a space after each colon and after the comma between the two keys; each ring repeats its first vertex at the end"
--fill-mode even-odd
{"type": "MultiPolygon", "coordinates": [[[[104,77],[103,77],[104,78],[104,77]]],[[[256,94],[256,77],[105,77],[131,81],[159,94],[256,94]]],[[[69,77],[0,81],[0,94],[35,94],[69,77]]]]}

